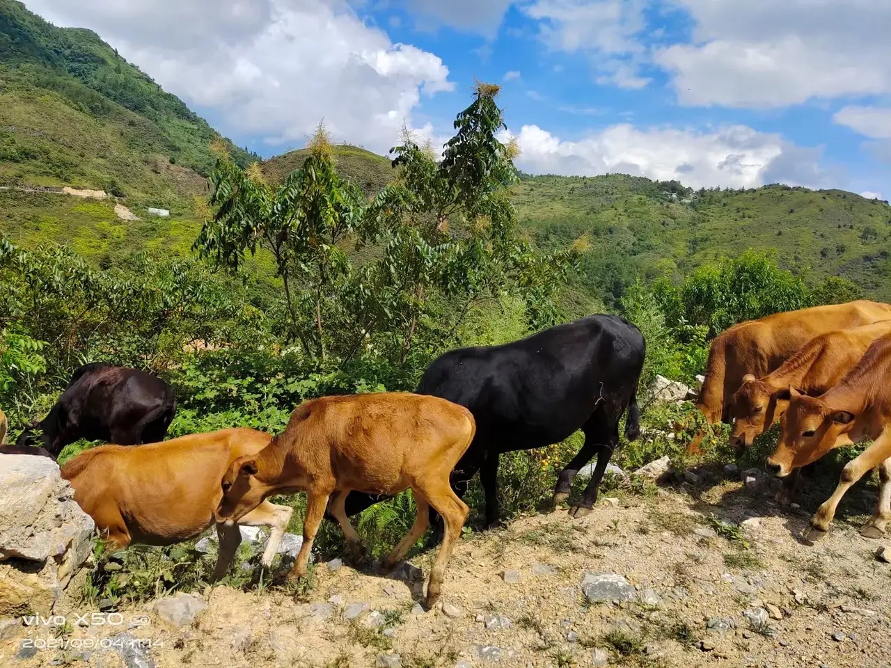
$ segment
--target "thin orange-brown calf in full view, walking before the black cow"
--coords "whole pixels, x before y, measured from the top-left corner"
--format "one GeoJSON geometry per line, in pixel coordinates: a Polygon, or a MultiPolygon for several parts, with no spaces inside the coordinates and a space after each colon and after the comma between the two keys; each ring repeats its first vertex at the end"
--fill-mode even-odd
{"type": "Polygon", "coordinates": [[[417,516],[384,562],[395,566],[429,525],[429,508],[445,522],[445,535],[427,585],[427,606],[439,598],[446,563],[470,509],[449,485],[449,475],[476,433],[466,408],[436,396],[383,392],[326,396],[302,403],[288,427],[255,456],[233,461],[222,478],[217,522],[241,521],[272,494],[307,491],[303,545],[288,574],[307,572],[309,553],[325,508],[354,554],[360,539],[344,511],[347,494],[393,496],[411,488],[417,516]]]}

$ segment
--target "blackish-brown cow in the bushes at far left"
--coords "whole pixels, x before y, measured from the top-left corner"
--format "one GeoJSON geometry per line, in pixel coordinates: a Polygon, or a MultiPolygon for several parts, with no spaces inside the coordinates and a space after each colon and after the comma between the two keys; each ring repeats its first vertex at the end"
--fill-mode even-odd
{"type": "Polygon", "coordinates": [[[58,457],[78,438],[119,445],[157,443],[164,440],[175,414],[173,388],[156,376],[106,363],[84,364],[49,414],[26,428],[15,444],[42,444],[58,457]],[[34,427],[43,431],[39,438],[34,427]]]}

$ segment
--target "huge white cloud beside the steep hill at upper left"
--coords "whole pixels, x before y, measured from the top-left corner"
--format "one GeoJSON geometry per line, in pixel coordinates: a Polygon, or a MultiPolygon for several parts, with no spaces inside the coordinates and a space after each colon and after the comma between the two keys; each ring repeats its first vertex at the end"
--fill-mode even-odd
{"type": "Polygon", "coordinates": [[[336,139],[387,151],[421,95],[451,90],[433,53],[392,44],[341,0],[30,0],[61,25],[95,29],[168,91],[211,107],[225,134],[302,143],[324,119],[336,139]]]}

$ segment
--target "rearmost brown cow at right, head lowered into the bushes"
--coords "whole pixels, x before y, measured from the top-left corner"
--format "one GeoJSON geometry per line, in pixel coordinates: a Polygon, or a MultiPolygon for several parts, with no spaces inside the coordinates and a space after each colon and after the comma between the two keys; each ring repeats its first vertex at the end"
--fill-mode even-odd
{"type": "MultiPolygon", "coordinates": [[[[718,335],[708,351],[706,380],[697,407],[709,424],[730,421],[733,393],[747,374],[761,378],[779,368],[814,337],[891,318],[891,305],[860,299],[814,306],[740,322],[718,335]]],[[[698,450],[701,436],[691,444],[698,450]]]]}

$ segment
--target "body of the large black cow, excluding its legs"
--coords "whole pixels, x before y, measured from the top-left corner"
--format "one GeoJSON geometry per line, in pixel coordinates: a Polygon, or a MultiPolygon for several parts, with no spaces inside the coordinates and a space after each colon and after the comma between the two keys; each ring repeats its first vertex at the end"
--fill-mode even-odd
{"type": "Polygon", "coordinates": [[[604,395],[616,388],[634,394],[644,351],[640,330],[624,318],[591,315],[503,346],[443,354],[425,371],[418,393],[466,406],[478,433],[518,448],[557,443],[604,395]]]}

